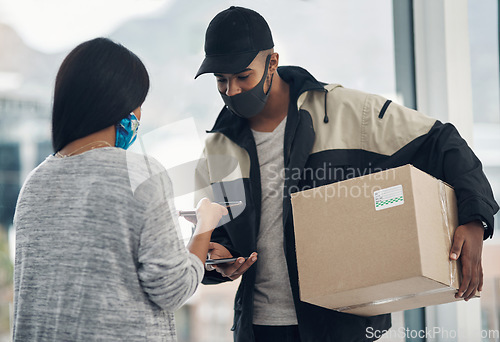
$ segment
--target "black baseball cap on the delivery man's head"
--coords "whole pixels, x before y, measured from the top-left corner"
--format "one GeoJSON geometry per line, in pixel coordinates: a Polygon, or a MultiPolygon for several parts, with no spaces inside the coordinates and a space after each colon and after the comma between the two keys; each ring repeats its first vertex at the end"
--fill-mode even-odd
{"type": "Polygon", "coordinates": [[[217,14],[205,34],[205,59],[196,77],[205,73],[235,74],[262,50],[274,47],[271,30],[257,12],[231,6],[217,14]]]}

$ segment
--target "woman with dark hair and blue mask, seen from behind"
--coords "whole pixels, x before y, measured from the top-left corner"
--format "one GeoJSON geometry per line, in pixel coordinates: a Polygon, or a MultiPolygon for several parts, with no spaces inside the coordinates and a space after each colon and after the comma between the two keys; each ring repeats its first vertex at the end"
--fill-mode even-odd
{"type": "Polygon", "coordinates": [[[200,201],[189,253],[165,169],[125,151],[148,89],[139,58],[108,39],[63,61],[55,153],[26,179],[14,218],[14,341],[175,340],[172,312],[200,283],[227,210],[200,201]]]}

